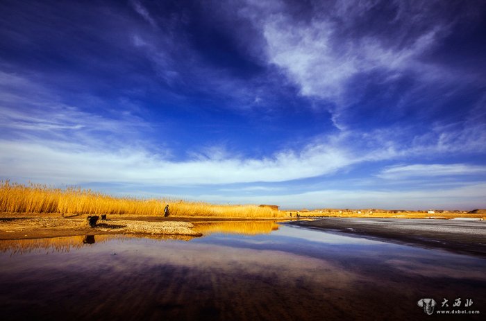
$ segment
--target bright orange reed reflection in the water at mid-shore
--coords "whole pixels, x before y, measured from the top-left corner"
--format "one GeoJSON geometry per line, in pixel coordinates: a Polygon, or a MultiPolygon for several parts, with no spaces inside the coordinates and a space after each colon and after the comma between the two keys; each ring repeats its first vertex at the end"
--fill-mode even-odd
{"type": "Polygon", "coordinates": [[[196,223],[194,231],[201,232],[203,235],[212,233],[228,234],[269,234],[278,229],[278,224],[274,221],[249,221],[249,222],[216,222],[216,223],[196,223]]]}

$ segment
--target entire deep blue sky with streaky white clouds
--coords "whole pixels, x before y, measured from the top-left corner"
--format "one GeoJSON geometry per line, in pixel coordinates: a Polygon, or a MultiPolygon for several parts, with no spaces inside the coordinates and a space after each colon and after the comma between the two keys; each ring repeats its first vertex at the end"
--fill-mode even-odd
{"type": "Polygon", "coordinates": [[[484,1],[0,3],[0,177],[486,207],[484,1]]]}

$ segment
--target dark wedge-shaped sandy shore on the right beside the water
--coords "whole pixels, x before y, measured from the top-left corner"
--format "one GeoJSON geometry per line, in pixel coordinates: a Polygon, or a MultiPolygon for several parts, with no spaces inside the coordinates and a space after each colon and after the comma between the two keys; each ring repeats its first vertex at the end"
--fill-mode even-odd
{"type": "Polygon", "coordinates": [[[287,223],[486,257],[486,222],[403,218],[323,218],[287,223]]]}

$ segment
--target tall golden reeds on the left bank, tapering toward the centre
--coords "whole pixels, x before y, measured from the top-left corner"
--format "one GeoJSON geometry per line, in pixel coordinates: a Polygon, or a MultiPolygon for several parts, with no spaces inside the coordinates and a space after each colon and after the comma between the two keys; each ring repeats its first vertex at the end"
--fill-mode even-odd
{"type": "Polygon", "coordinates": [[[169,205],[171,216],[226,216],[242,218],[276,218],[284,212],[255,205],[212,205],[169,199],[115,198],[90,189],[54,189],[40,184],[0,181],[0,212],[59,214],[131,214],[160,216],[169,205]]]}

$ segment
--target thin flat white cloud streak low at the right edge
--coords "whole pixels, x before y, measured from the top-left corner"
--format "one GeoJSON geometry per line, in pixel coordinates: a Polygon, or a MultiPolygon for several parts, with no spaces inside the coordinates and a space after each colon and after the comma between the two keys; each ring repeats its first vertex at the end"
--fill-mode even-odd
{"type": "Polygon", "coordinates": [[[378,177],[403,179],[407,177],[430,177],[446,175],[486,174],[486,166],[468,164],[412,164],[385,168],[378,177]]]}

